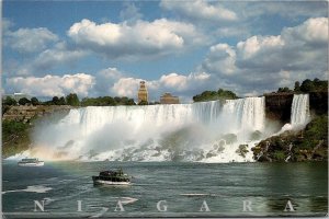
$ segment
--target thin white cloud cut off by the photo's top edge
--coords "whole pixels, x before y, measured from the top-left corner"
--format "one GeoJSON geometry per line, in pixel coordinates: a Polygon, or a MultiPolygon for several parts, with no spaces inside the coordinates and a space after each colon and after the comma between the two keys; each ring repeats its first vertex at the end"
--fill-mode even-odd
{"type": "Polygon", "coordinates": [[[186,18],[203,21],[236,21],[237,14],[225,9],[218,2],[196,1],[172,1],[162,0],[160,5],[166,10],[175,11],[186,18]]]}

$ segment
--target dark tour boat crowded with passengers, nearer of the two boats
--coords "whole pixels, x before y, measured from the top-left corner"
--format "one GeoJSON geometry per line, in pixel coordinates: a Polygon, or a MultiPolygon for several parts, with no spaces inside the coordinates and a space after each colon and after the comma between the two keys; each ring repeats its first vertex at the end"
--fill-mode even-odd
{"type": "Polygon", "coordinates": [[[131,177],[123,173],[120,169],[117,171],[102,171],[100,175],[92,176],[94,185],[129,185],[131,177]]]}

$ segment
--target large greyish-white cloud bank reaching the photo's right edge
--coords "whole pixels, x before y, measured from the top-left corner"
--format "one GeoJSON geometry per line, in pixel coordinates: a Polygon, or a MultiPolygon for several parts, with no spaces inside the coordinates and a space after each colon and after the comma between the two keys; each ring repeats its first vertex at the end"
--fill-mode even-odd
{"type": "Polygon", "coordinates": [[[328,69],[328,19],[315,18],[283,28],[277,36],[252,36],[236,46],[212,46],[200,70],[240,94],[292,87],[296,80],[324,78],[328,69]]]}

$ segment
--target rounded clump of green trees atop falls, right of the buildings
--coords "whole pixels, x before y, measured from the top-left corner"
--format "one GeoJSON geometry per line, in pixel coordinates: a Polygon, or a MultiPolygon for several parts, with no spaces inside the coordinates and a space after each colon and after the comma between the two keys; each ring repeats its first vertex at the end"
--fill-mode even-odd
{"type": "Polygon", "coordinates": [[[202,102],[202,101],[216,101],[216,100],[231,100],[237,99],[238,96],[228,90],[219,89],[216,91],[204,91],[201,94],[193,96],[194,102],[202,102]]]}

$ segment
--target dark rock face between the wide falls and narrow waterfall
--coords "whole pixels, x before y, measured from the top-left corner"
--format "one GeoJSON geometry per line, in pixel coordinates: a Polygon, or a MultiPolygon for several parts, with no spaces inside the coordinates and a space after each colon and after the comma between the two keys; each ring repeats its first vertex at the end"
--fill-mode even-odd
{"type": "Polygon", "coordinates": [[[282,124],[290,123],[293,99],[293,93],[265,94],[266,118],[280,120],[282,124]]]}

